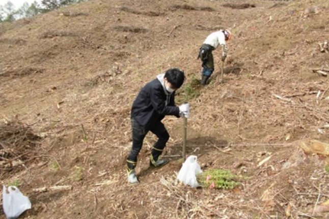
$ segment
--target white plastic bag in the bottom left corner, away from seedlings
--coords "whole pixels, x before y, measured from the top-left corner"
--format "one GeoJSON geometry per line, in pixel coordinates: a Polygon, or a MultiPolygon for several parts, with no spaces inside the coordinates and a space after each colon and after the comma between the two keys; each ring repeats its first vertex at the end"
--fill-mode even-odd
{"type": "Polygon", "coordinates": [[[9,219],[18,218],[25,210],[31,209],[31,202],[16,186],[3,186],[3,208],[9,219]]]}

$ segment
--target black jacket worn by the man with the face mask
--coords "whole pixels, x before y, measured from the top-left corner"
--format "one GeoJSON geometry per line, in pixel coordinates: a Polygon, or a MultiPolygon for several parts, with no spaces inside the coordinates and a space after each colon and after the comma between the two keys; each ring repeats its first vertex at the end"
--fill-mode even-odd
{"type": "Polygon", "coordinates": [[[175,91],[168,93],[158,78],[147,83],[139,92],[131,108],[131,118],[145,130],[152,123],[161,121],[165,115],[179,117],[179,108],[175,106],[175,91]]]}

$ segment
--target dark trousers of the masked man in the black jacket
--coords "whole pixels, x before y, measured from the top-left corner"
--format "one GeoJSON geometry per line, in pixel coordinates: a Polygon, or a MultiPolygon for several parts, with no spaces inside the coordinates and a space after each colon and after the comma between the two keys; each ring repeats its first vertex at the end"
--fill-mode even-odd
{"type": "Polygon", "coordinates": [[[148,130],[140,127],[139,123],[131,118],[131,130],[132,130],[132,146],[127,158],[128,168],[134,169],[137,162],[138,154],[140,153],[146,134],[151,131],[156,137],[157,142],[153,145],[151,154],[154,161],[157,161],[163,148],[166,147],[166,143],[169,140],[169,133],[161,121],[155,122],[148,130]]]}

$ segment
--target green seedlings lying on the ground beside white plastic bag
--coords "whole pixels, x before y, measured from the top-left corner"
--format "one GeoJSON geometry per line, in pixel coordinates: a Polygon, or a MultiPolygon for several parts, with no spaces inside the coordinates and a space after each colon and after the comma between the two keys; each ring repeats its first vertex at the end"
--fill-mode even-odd
{"type": "Polygon", "coordinates": [[[242,176],[222,169],[207,170],[197,175],[199,184],[209,189],[233,189],[241,184],[237,181],[238,178],[242,178],[242,176]]]}

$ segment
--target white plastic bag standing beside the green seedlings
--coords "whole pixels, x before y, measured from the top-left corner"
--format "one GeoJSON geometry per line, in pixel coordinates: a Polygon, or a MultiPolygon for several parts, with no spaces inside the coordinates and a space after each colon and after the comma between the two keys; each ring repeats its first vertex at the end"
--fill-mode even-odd
{"type": "Polygon", "coordinates": [[[197,162],[196,155],[190,155],[183,163],[178,173],[178,180],[183,182],[185,185],[192,187],[199,187],[196,175],[202,173],[200,165],[197,162]]]}

